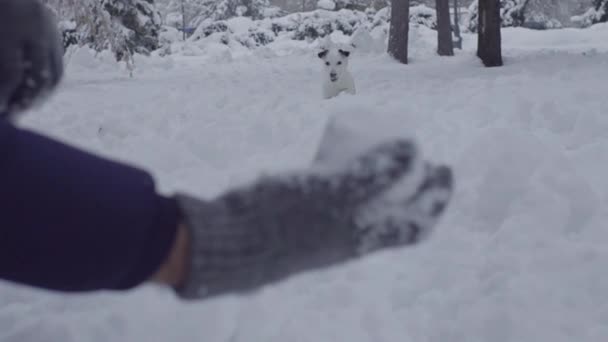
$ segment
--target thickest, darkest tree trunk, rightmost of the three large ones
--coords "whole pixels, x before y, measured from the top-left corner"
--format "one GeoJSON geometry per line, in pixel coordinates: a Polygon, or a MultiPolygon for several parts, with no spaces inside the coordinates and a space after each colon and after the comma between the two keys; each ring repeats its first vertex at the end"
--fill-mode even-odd
{"type": "Polygon", "coordinates": [[[487,67],[501,66],[500,1],[479,0],[477,56],[487,67]]]}

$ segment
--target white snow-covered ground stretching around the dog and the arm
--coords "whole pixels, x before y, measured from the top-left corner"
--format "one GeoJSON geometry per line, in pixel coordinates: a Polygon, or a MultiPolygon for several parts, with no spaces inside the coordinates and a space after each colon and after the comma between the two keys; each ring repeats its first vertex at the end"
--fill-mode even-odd
{"type": "Polygon", "coordinates": [[[249,297],[3,284],[0,341],[608,340],[608,25],[505,29],[493,69],[474,36],[440,58],[433,33],[413,34],[411,64],[354,54],[358,94],[332,100],[302,49],[141,59],[132,79],[72,56],[62,89],[21,124],[145,167],[164,193],[210,197],[305,167],[330,118],[415,136],[453,166],[457,191],[423,245],[249,297]]]}

